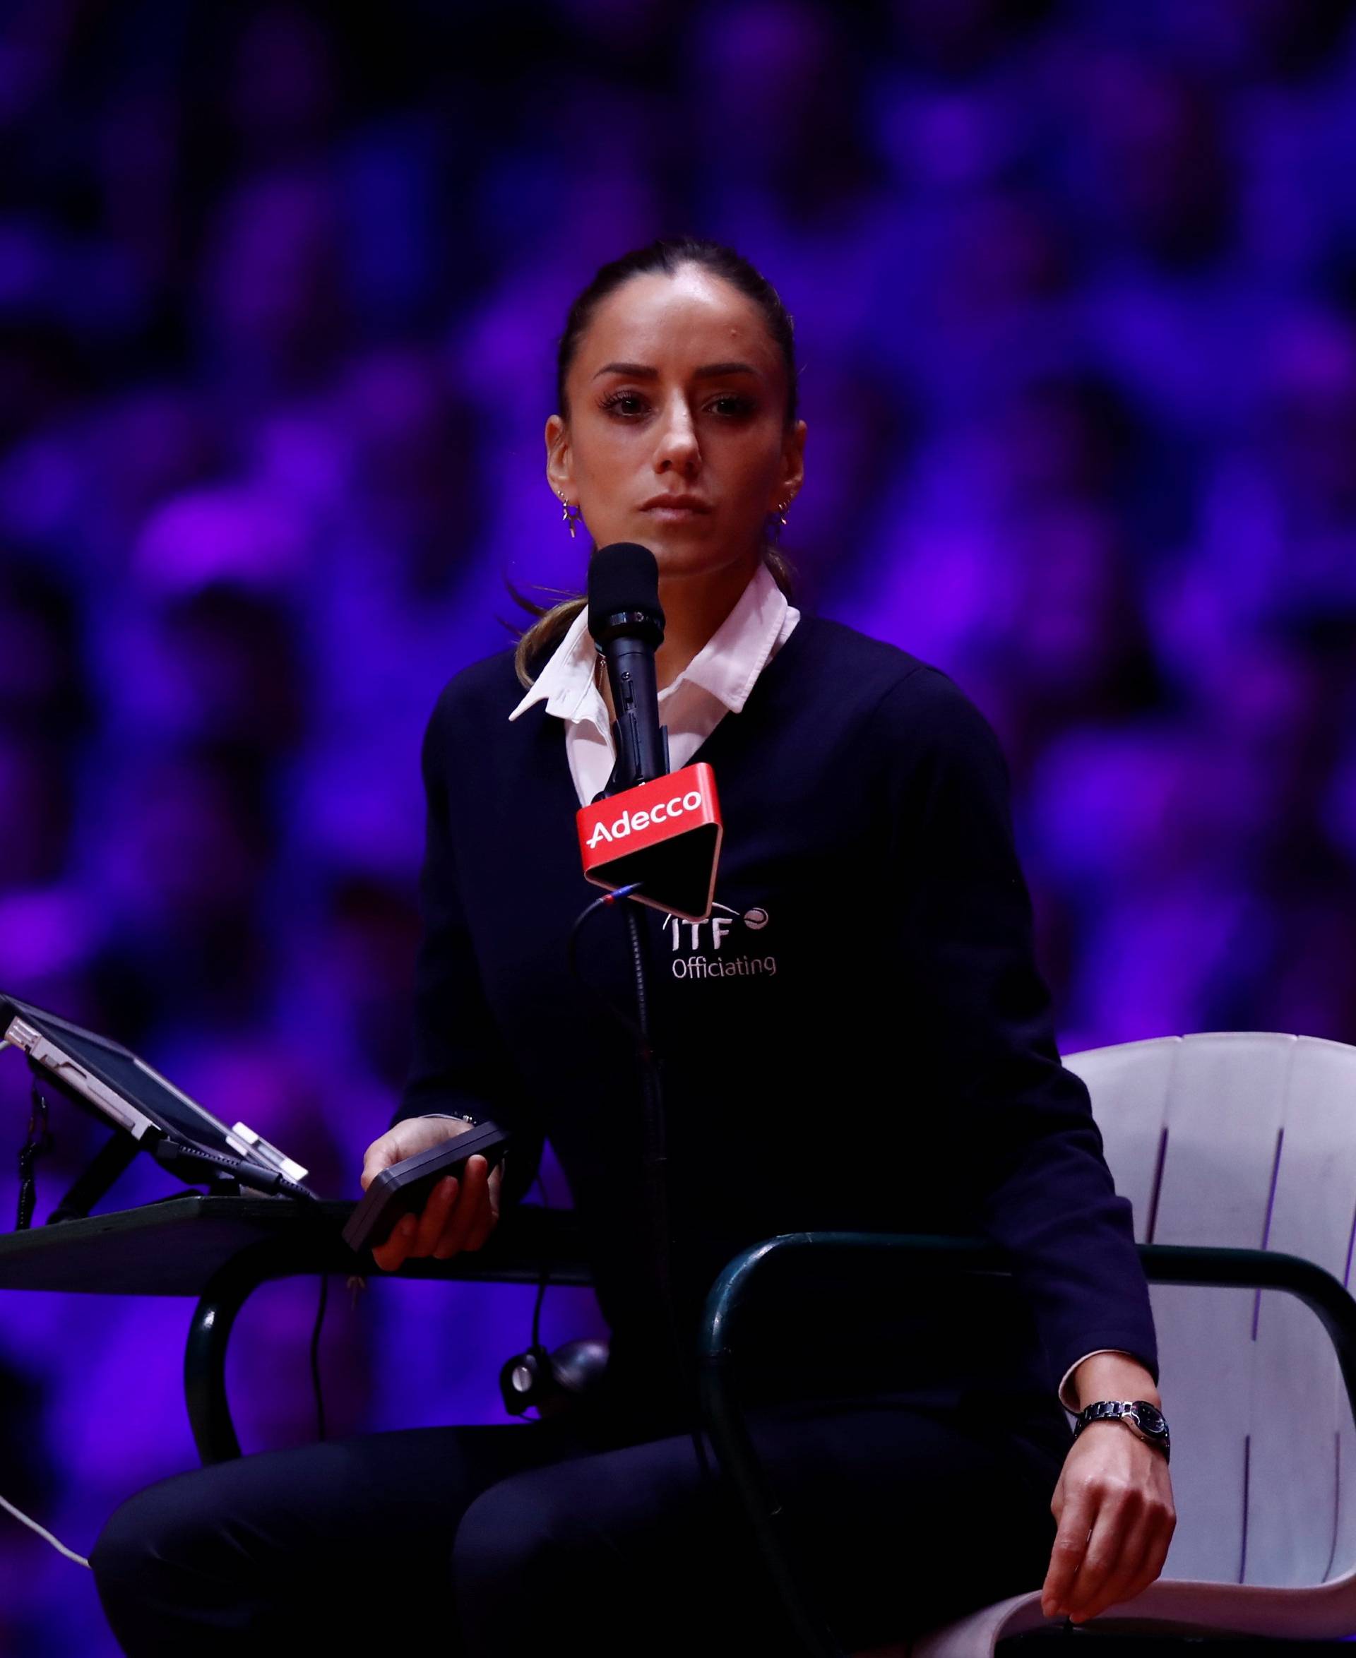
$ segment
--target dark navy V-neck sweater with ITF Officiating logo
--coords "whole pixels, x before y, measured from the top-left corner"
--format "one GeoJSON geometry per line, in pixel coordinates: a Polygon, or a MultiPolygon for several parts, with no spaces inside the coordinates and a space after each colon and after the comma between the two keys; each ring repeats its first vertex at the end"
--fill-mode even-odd
{"type": "MultiPolygon", "coordinates": [[[[648,1373],[661,1318],[637,1063],[567,972],[570,924],[597,889],[579,869],[562,725],[540,710],[509,723],[519,696],[502,653],[459,673],[429,721],[416,1043],[398,1117],[471,1109],[512,1129],[509,1199],[549,1136],[613,1370],[648,1373]]],[[[786,1287],[774,1316],[792,1328],[769,1326],[768,1376],[822,1391],[864,1318],[859,1383],[920,1398],[1021,1389],[1053,1406],[1096,1348],[1154,1370],[1129,1204],[1087,1093],[1059,1064],[983,716],[905,652],[802,617],[696,758],[716,773],[726,826],[718,907],[701,925],[640,912],[685,1340],[721,1265],[772,1234],[983,1232],[1013,1280],[960,1297],[786,1287]]],[[[618,912],[584,933],[580,967],[628,1003],[618,912]]]]}

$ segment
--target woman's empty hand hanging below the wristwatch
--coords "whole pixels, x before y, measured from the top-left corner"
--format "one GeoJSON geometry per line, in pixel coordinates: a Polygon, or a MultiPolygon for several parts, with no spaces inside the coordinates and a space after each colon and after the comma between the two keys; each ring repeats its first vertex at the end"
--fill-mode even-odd
{"type": "Polygon", "coordinates": [[[1122,1423],[1082,1429],[1049,1507],[1058,1532],[1041,1588],[1048,1618],[1082,1623],[1162,1572],[1177,1524],[1167,1457],[1122,1423]]]}

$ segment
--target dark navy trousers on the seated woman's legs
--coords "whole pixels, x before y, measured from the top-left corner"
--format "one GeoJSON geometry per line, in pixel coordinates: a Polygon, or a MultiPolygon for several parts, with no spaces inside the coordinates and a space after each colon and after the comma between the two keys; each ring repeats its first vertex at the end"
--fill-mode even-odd
{"type": "MultiPolygon", "coordinates": [[[[799,1568],[852,1648],[1039,1585],[1068,1433],[912,1404],[754,1416],[799,1568]]],[[[131,1658],[794,1651],[690,1437],[426,1428],[247,1456],[123,1504],[93,1557],[131,1658]]]]}

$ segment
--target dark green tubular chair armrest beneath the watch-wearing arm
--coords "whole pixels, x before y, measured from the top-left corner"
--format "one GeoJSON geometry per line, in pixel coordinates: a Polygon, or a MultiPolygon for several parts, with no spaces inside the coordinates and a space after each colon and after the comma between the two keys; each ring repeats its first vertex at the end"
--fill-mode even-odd
{"type": "MultiPolygon", "coordinates": [[[[845,1658],[832,1630],[804,1593],[781,1535],[781,1504],[768,1484],[743,1411],[734,1401],[734,1340],[756,1283],[769,1263],[809,1253],[857,1258],[882,1278],[1006,1273],[1008,1258],[985,1239],[885,1232],[787,1232],[754,1244],[731,1260],[706,1298],[698,1340],[701,1414],[716,1457],[748,1514],[764,1565],[804,1651],[845,1658]]],[[[1321,1267],[1298,1255],[1255,1248],[1208,1248],[1142,1244],[1139,1258],[1150,1283],[1203,1288],[1285,1290],[1320,1318],[1336,1350],[1343,1383],[1356,1416],[1356,1300],[1321,1267]]]]}

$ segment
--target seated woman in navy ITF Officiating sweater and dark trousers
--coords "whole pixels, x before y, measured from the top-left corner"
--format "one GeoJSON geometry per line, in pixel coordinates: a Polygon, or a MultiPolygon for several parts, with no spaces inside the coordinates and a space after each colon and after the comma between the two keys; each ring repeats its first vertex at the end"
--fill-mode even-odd
{"type": "MultiPolygon", "coordinates": [[[[749,1366],[756,1436],[847,1645],[1041,1580],[1046,1613],[1081,1622],[1159,1573],[1172,1499],[1159,1447],[1122,1421],[1071,1442],[1059,1411],[1157,1403],[1154,1331],[1054,1051],[993,736],[938,671],[787,604],[766,531],[806,428],[791,318],[753,267],[705,242],[603,267],[559,370],[547,478],[572,534],[582,517],[597,544],[653,549],[673,764],[700,748],[726,821],[713,920],[643,912],[680,1341],[756,1239],[986,1230],[1013,1282],[889,1307],[852,1283],[804,1310],[784,1292],[749,1366]]],[[[363,1185],[492,1116],[514,1132],[511,1202],[549,1134],[612,1326],[600,1396],[529,1429],[370,1436],[143,1492],[93,1560],[129,1653],[207,1658],[245,1630],[322,1651],[436,1630],[476,1658],[721,1650],[709,1625],[777,1650],[653,1287],[637,1059],[595,995],[630,995],[625,928],[603,925],[622,917],[565,970],[592,895],[572,816],[612,769],[595,668],[562,607],[438,703],[416,1056],[363,1185]]],[[[479,1248],[499,1209],[472,1159],[378,1262],[479,1248]]]]}

